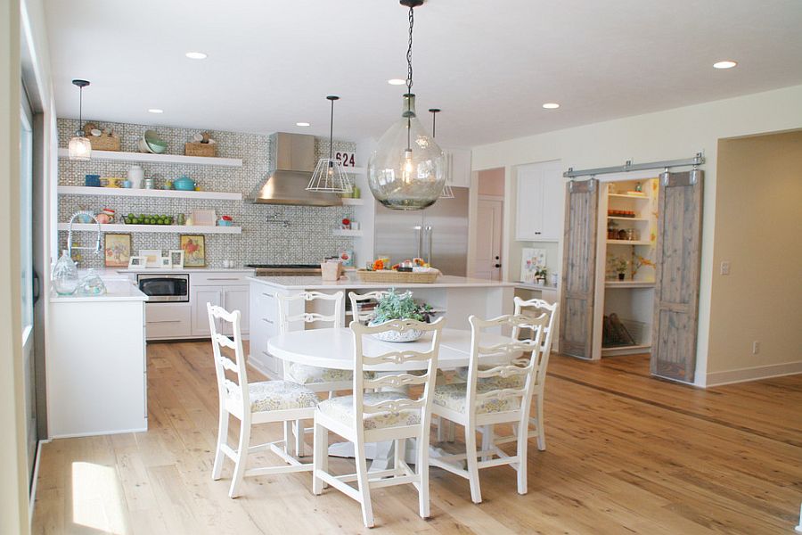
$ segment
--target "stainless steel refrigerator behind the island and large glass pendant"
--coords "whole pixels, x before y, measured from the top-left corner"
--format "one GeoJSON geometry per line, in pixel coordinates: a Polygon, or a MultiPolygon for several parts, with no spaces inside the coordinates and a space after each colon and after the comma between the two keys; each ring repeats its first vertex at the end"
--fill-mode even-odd
{"type": "Polygon", "coordinates": [[[468,188],[453,187],[454,199],[438,199],[425,210],[389,210],[377,203],[373,251],[392,263],[425,259],[444,275],[468,268],[468,188]]]}

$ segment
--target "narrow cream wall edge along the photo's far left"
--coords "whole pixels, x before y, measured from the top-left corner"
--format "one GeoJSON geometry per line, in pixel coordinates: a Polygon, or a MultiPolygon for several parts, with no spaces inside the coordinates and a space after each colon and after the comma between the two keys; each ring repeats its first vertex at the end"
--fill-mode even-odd
{"type": "Polygon", "coordinates": [[[27,533],[20,322],[20,2],[0,0],[0,533],[27,533]]]}

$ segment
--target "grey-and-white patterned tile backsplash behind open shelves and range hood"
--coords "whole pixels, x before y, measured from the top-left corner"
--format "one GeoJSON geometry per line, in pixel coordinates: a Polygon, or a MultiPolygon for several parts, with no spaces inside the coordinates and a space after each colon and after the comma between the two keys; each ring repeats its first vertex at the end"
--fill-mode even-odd
{"type": "MultiPolygon", "coordinates": [[[[136,144],[147,129],[156,130],[168,143],[168,154],[184,154],[184,143],[192,139],[199,129],[149,127],[125,123],[93,120],[99,128],[111,128],[120,137],[120,151],[138,152],[136,144]]],[[[66,147],[70,137],[78,129],[75,119],[59,119],[59,143],[66,147]]],[[[240,158],[241,168],[221,168],[174,163],[147,163],[126,161],[70,161],[59,159],[59,184],[84,185],[85,175],[101,177],[126,177],[131,165],[140,165],[144,176],[161,175],[166,180],[182,175],[191,177],[205,191],[241,192],[248,195],[266,177],[271,162],[270,136],[243,134],[239,132],[209,131],[217,141],[217,156],[240,158]]],[[[355,151],[356,144],[335,140],[335,149],[355,151]]],[[[328,154],[329,140],[317,139],[315,151],[318,157],[328,154]]],[[[157,182],[157,187],[162,185],[157,182]]],[[[217,217],[228,215],[235,226],[242,227],[241,235],[206,235],[206,261],[209,268],[221,268],[224,260],[233,260],[236,265],[250,263],[315,263],[340,251],[353,250],[353,238],[332,235],[331,229],[342,218],[353,217],[351,207],[307,207],[272,206],[249,204],[244,201],[203,201],[190,199],[160,199],[154,197],[115,197],[59,195],[59,221],[69,221],[78,210],[103,208],[117,210],[119,215],[166,214],[177,216],[192,210],[215,210],[217,217]],[[276,221],[269,221],[274,218],[276,221]],[[281,221],[288,221],[283,226],[281,221]]],[[[161,249],[167,253],[178,249],[179,234],[132,234],[133,251],[161,249]]],[[[192,234],[192,226],[185,234],[192,234]]],[[[67,233],[60,232],[60,248],[67,245],[67,233]]],[[[73,242],[81,245],[94,244],[94,235],[85,232],[73,234],[73,242]]],[[[86,253],[86,251],[81,251],[86,253]]],[[[84,254],[78,263],[80,268],[102,268],[102,256],[84,254]]]]}

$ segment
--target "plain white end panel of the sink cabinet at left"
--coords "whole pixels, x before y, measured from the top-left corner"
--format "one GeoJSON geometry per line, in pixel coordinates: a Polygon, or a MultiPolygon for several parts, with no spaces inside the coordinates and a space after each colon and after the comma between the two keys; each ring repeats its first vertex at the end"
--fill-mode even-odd
{"type": "Polygon", "coordinates": [[[147,431],[144,301],[55,298],[50,325],[49,437],[147,431]]]}

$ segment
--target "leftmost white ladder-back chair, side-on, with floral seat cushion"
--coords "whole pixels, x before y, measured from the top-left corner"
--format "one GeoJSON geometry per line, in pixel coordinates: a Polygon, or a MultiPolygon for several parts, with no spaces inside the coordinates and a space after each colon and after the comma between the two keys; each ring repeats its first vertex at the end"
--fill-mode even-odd
{"type": "Polygon", "coordinates": [[[248,383],[248,371],[245,362],[245,351],[242,350],[240,311],[227,312],[225,309],[207,303],[209,310],[209,329],[211,331],[212,349],[214,350],[215,371],[217,373],[217,393],[220,404],[220,422],[217,427],[217,449],[215,464],[212,468],[212,479],[220,479],[225,457],[234,462],[231,489],[228,496],[239,495],[242,478],[251,475],[272,473],[290,473],[311,471],[313,465],[301,464],[296,457],[285,451],[286,444],[268,442],[258,446],[250,446],[250,428],[253,424],[270,422],[289,422],[302,418],[312,418],[318,399],[315,392],[287,381],[264,381],[248,383]],[[217,329],[217,321],[229,324],[233,338],[217,329]],[[233,358],[224,353],[233,351],[233,358]],[[229,379],[226,372],[233,376],[229,379]],[[237,449],[228,445],[229,416],[240,421],[240,441],[237,449]],[[245,469],[250,453],[271,450],[288,465],[266,466],[245,469]]]}

